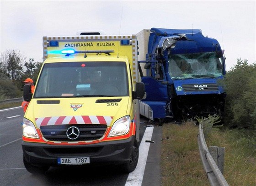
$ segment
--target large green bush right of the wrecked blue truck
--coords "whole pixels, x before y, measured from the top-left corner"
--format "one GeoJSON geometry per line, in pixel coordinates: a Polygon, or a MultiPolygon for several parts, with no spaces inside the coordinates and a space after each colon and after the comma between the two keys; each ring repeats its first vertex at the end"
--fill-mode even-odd
{"type": "Polygon", "coordinates": [[[256,63],[237,59],[224,79],[227,93],[224,123],[238,128],[256,128],[256,63]]]}

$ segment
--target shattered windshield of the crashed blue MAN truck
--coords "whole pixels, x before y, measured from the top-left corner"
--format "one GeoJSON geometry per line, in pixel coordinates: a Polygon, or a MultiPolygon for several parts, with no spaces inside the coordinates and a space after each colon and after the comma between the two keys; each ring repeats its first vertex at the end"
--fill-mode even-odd
{"type": "Polygon", "coordinates": [[[172,79],[219,77],[221,61],[215,52],[169,55],[169,74],[172,79]]]}

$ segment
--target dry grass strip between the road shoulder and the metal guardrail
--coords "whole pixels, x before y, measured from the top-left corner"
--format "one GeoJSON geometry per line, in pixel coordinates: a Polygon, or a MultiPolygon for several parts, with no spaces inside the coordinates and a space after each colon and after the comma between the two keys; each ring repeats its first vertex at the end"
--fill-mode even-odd
{"type": "Polygon", "coordinates": [[[198,126],[164,124],[161,149],[162,186],[209,186],[197,145],[198,126]]]}

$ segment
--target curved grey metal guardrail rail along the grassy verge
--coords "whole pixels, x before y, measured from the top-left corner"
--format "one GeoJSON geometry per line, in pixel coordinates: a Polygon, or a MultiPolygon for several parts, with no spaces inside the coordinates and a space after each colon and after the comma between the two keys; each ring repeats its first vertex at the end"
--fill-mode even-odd
{"type": "MultiPolygon", "coordinates": [[[[202,122],[207,122],[206,120],[202,122]]],[[[199,134],[197,136],[197,143],[199,146],[201,161],[203,163],[203,168],[207,174],[208,181],[211,186],[229,186],[225,180],[222,172],[219,170],[216,162],[213,159],[210,151],[208,150],[207,144],[205,142],[202,122],[199,123],[199,134]]]]}

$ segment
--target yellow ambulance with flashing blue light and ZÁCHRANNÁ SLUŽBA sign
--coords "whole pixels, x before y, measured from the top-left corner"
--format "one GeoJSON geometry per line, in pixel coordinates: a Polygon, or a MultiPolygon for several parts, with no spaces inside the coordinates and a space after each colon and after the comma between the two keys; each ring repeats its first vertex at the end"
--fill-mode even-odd
{"type": "Polygon", "coordinates": [[[44,36],[43,66],[23,119],[23,162],[50,166],[113,164],[133,171],[139,158],[136,35],[44,36]]]}

